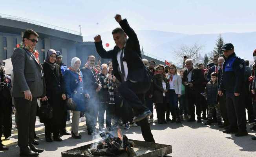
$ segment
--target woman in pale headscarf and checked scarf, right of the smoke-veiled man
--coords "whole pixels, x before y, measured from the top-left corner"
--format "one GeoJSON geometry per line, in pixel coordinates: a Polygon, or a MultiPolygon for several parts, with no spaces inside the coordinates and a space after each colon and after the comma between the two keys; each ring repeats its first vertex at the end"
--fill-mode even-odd
{"type": "Polygon", "coordinates": [[[116,86],[115,77],[108,74],[109,68],[107,64],[101,65],[101,73],[99,80],[102,84],[102,89],[99,91],[100,95],[100,110],[99,110],[99,129],[104,127],[104,113],[106,110],[106,128],[110,129],[111,120],[113,118],[115,101],[114,101],[114,87],[116,86]]]}

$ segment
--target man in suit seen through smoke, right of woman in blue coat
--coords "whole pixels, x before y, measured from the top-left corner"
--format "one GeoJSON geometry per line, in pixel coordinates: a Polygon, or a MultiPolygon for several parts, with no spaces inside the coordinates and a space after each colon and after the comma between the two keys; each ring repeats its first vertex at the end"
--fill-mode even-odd
{"type": "Polygon", "coordinates": [[[83,88],[87,89],[90,100],[89,104],[86,105],[85,117],[88,135],[91,135],[95,131],[96,120],[99,113],[99,91],[102,86],[99,81],[99,76],[95,70],[94,56],[88,56],[86,65],[81,69],[84,76],[83,88]]]}

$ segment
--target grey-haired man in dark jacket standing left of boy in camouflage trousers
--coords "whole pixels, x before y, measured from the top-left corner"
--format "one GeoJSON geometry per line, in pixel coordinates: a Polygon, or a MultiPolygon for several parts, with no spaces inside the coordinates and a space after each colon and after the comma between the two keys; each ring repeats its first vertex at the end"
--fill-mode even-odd
{"type": "Polygon", "coordinates": [[[195,106],[197,122],[201,122],[201,108],[199,103],[200,88],[204,81],[204,75],[201,69],[193,67],[193,60],[188,58],[185,61],[187,69],[184,71],[182,83],[185,86],[185,95],[188,102],[188,110],[190,113],[190,119],[188,122],[194,122],[195,120],[195,106]]]}

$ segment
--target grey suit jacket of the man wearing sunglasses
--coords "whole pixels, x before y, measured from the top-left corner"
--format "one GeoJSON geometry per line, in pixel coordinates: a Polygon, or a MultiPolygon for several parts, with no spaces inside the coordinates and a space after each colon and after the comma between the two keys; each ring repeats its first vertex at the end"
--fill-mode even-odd
{"type": "Polygon", "coordinates": [[[30,90],[33,97],[44,97],[46,94],[43,68],[35,56],[23,49],[16,48],[11,57],[13,64],[13,97],[24,97],[24,91],[30,90]]]}

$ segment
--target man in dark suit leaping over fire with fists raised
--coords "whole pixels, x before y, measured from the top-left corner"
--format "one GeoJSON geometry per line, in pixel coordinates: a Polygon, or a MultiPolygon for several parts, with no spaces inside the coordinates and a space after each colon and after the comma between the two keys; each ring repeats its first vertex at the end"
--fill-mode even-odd
{"type": "Polygon", "coordinates": [[[150,88],[150,77],[141,60],[139,40],[126,19],[122,20],[121,15],[116,15],[115,20],[121,26],[112,31],[116,46],[113,50],[106,51],[102,46],[101,36],[97,35],[94,38],[96,50],[102,58],[112,58],[114,76],[122,82],[117,90],[123,97],[123,102],[135,110],[134,121],[140,121],[144,140],[154,142],[147,120],[152,112],[145,106],[145,93],[150,88]]]}

